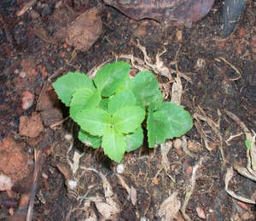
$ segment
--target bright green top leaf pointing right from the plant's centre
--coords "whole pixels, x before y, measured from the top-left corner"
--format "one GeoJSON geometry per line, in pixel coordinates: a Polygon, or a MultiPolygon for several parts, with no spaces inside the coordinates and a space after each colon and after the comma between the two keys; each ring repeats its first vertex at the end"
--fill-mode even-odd
{"type": "Polygon", "coordinates": [[[120,133],[132,133],[140,127],[145,111],[139,106],[125,106],[113,114],[113,124],[120,133]]]}

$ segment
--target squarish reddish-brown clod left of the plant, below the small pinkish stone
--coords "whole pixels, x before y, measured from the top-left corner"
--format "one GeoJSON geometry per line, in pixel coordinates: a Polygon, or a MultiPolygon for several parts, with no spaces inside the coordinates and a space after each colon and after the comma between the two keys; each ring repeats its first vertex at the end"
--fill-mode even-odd
{"type": "Polygon", "coordinates": [[[20,116],[19,133],[21,136],[36,138],[43,129],[43,123],[37,112],[32,112],[31,117],[20,116]]]}

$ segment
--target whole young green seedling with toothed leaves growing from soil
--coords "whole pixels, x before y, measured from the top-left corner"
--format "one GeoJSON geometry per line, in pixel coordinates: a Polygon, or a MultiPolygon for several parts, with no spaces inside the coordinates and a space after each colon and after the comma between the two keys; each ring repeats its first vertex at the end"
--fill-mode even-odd
{"type": "Polygon", "coordinates": [[[163,102],[153,73],[140,71],[131,79],[129,73],[130,65],[119,61],[104,65],[93,81],[83,73],[68,72],[53,83],[80,126],[79,139],[93,148],[102,147],[117,162],[125,151],[143,144],[145,129],[148,146],[154,148],[193,126],[192,117],[182,106],[163,102]]]}

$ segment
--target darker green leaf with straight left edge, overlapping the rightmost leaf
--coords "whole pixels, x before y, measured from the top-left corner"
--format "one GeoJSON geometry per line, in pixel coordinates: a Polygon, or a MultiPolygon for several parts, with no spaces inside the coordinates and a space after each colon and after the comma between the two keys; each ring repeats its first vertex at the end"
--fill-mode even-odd
{"type": "Polygon", "coordinates": [[[166,116],[161,113],[149,112],[147,119],[148,145],[154,148],[155,144],[163,144],[170,133],[170,124],[166,116]]]}

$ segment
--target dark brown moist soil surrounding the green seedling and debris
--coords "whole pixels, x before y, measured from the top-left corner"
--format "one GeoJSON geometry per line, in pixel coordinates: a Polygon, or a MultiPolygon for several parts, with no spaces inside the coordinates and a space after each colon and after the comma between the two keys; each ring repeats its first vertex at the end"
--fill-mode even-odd
{"type": "MultiPolygon", "coordinates": [[[[10,0],[0,3],[0,139],[11,136],[17,142],[25,143],[26,151],[33,156],[34,148],[40,148],[47,136],[51,149],[42,166],[44,176],[38,178],[33,220],[87,220],[90,214],[96,214],[93,220],[100,220],[101,214],[95,203],[87,205],[85,202],[90,197],[104,198],[102,178],[92,171],[84,171],[83,167],[95,168],[108,178],[120,205],[121,212],[116,220],[160,220],[160,205],[174,191],[178,192],[177,197],[183,206],[189,192],[192,168],[203,156],[195,189],[185,209],[189,218],[201,220],[198,213],[201,209],[207,220],[255,220],[253,205],[242,204],[224,190],[227,168],[234,163],[247,164],[245,134],[224,110],[232,112],[250,130],[256,131],[256,4],[253,0],[248,0],[236,30],[227,39],[221,38],[222,1],[215,1],[210,13],[191,28],[177,26],[174,22],[165,25],[154,20],[130,20],[116,9],[105,6],[101,15],[102,35],[87,52],[74,50],[65,43],[50,42],[49,36],[60,28],[61,16],[65,17],[65,14],[56,15],[58,8],[55,5],[59,1],[38,0],[25,14],[16,16],[25,2],[10,0]],[[42,37],[42,31],[38,34],[33,29],[36,25],[43,26],[48,37],[42,37]],[[189,150],[195,157],[172,148],[167,155],[170,162],[168,171],[161,163],[160,146],[148,150],[144,145],[140,150],[125,155],[122,161],[125,172],[121,176],[128,186],[137,190],[137,201],[133,205],[115,175],[117,164],[108,160],[102,150],[92,150],[80,143],[77,139],[78,126],[74,122],[67,119],[55,130],[44,125],[44,132],[31,139],[19,135],[19,119],[36,111],[44,84],[57,72],[59,76],[67,71],[87,73],[108,59],[114,60],[119,54],[134,54],[143,59],[141,50],[134,43],[137,39],[147,48],[153,63],[155,55],[166,48],[161,57],[165,65],[175,69],[172,61],[176,60],[178,70],[191,79],[188,82],[182,78],[182,105],[192,116],[206,116],[208,120],[194,119],[195,127],[186,134],[187,141],[197,142],[201,147],[189,150]],[[29,67],[26,68],[24,63],[29,63],[29,67]],[[22,71],[26,72],[25,77],[22,71]],[[35,102],[24,111],[21,94],[26,90],[35,95],[35,102]],[[219,120],[220,136],[210,126],[209,119],[215,123],[219,120]],[[238,133],[242,133],[241,136],[230,140],[230,144],[225,142],[238,133]],[[73,134],[71,141],[65,139],[67,134],[73,134]],[[67,153],[71,144],[73,149],[67,153]],[[225,163],[219,150],[221,144],[225,163]],[[75,150],[84,155],[79,160],[78,171],[70,175],[68,160],[73,161],[75,150]],[[61,171],[63,167],[67,167],[69,175],[61,171]],[[76,190],[67,188],[68,178],[79,181],[76,190]]],[[[76,14],[98,5],[98,1],[90,0],[66,3],[76,14]]],[[[167,81],[165,77],[158,78],[160,82],[167,81]]],[[[61,111],[64,117],[68,115],[64,106],[61,106],[61,111]]],[[[256,190],[255,183],[238,173],[231,179],[229,188],[247,198],[255,195],[256,190]]],[[[18,190],[13,198],[9,198],[6,192],[0,192],[1,220],[7,220],[9,214],[19,211],[17,205],[21,192],[18,190]]],[[[24,214],[26,212],[23,212],[23,217],[24,214]]],[[[181,214],[179,218],[183,220],[181,214]]]]}

